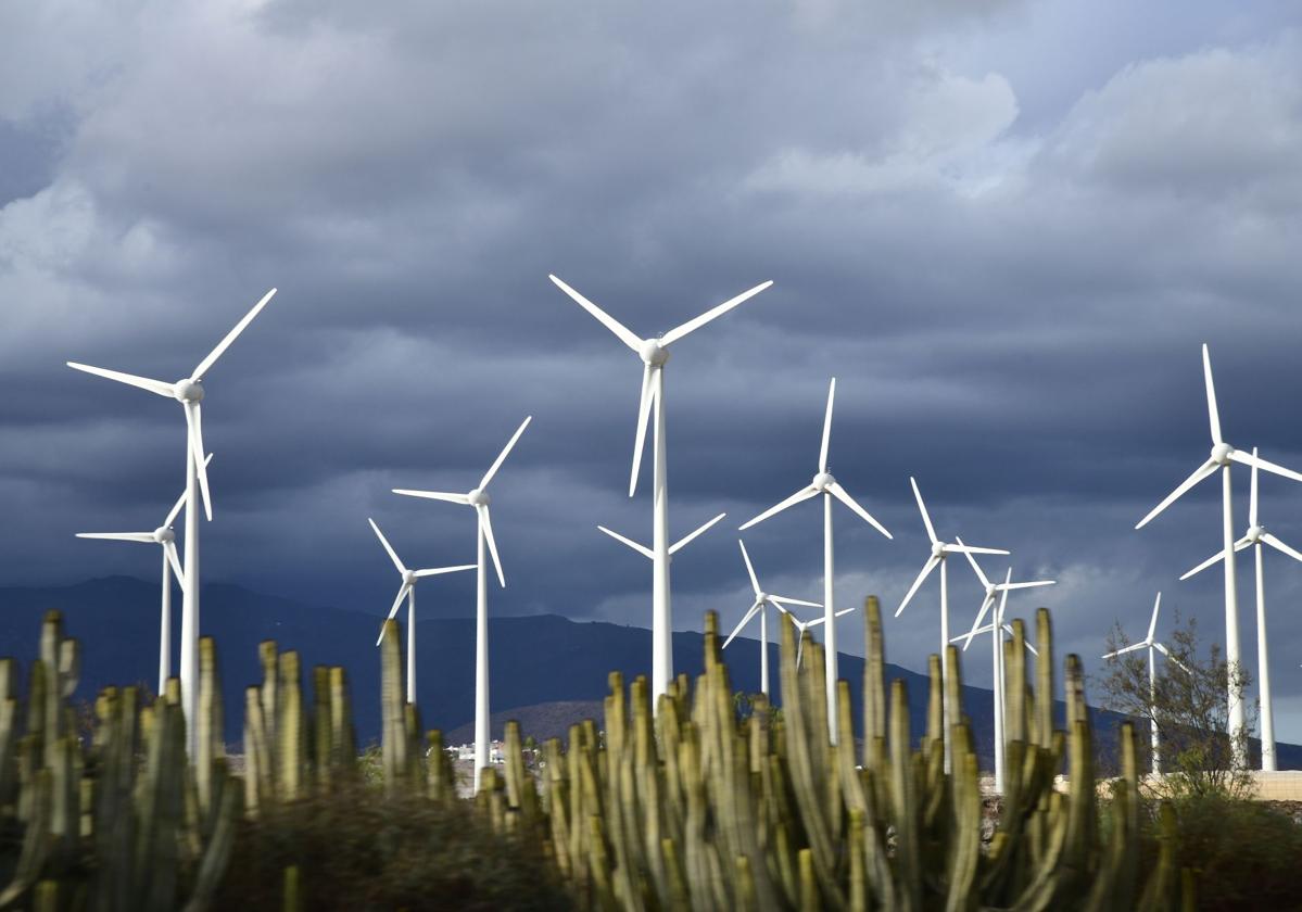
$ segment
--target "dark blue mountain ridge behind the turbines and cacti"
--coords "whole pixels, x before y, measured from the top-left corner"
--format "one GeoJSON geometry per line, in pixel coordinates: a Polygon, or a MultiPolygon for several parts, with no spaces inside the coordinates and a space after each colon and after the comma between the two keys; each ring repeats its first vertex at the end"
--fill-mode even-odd
{"type": "MultiPolygon", "coordinates": [[[[176,604],[173,657],[180,654],[178,601],[176,604]]],[[[379,738],[378,617],[303,605],[223,583],[206,585],[201,604],[201,630],[217,643],[229,743],[242,739],[243,688],[260,682],[258,643],[268,639],[281,649],[297,649],[305,671],[314,665],[348,669],[358,740],[365,744],[379,738]]],[[[40,618],[48,609],[62,611],[68,635],[82,643],[81,682],[74,699],[92,700],[107,684],[143,682],[152,691],[158,677],[156,583],[108,576],[66,587],[0,588],[0,654],[13,656],[23,665],[30,662],[38,653],[40,618]]],[[[422,721],[426,727],[447,731],[449,743],[467,740],[470,730],[461,726],[469,726],[474,717],[474,621],[431,618],[418,623],[417,704],[422,721]]],[[[539,740],[564,734],[569,723],[585,716],[600,716],[609,671],[624,673],[625,682],[651,674],[651,631],[646,628],[575,622],[553,614],[492,618],[488,628],[495,732],[506,718],[514,717],[521,719],[525,734],[534,734],[539,740]]],[[[887,645],[889,649],[889,643],[887,645]]],[[[700,674],[700,634],[674,634],[673,648],[677,673],[700,674]]],[[[777,647],[769,649],[776,670],[777,647]]],[[[759,690],[758,641],[738,637],[728,648],[727,660],[736,690],[759,690]]],[[[173,670],[176,667],[173,658],[173,670]]],[[[853,718],[858,727],[863,660],[842,653],[840,671],[853,682],[853,718]]],[[[907,684],[910,722],[917,736],[926,727],[927,679],[888,664],[887,680],[894,678],[907,684]]],[[[305,684],[310,686],[306,674],[305,684]]],[[[963,709],[971,718],[986,766],[991,765],[991,704],[988,690],[963,688],[963,709]]],[[[1061,718],[1061,704],[1057,712],[1061,718]]],[[[1113,713],[1094,710],[1094,721],[1100,756],[1107,760],[1120,719],[1113,713]]],[[[1302,748],[1280,744],[1279,758],[1281,769],[1299,769],[1302,748]]]]}

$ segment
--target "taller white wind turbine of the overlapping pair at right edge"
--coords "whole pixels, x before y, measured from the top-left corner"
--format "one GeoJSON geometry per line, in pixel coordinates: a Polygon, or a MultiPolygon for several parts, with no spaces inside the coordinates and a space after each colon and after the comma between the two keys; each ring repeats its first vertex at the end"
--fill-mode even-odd
{"type": "MultiPolygon", "coordinates": [[[[1216,386],[1212,384],[1212,362],[1211,355],[1207,353],[1207,345],[1203,343],[1203,381],[1207,385],[1207,422],[1211,425],[1212,432],[1212,449],[1211,455],[1207,457],[1207,462],[1194,470],[1193,475],[1180,483],[1180,485],[1167,494],[1165,500],[1157,506],[1148,511],[1148,515],[1141,519],[1135,528],[1143,528],[1148,522],[1156,516],[1159,513],[1170,506],[1181,494],[1187,492],[1195,484],[1206,477],[1211,477],[1220,468],[1221,472],[1221,540],[1223,548],[1221,554],[1225,559],[1225,662],[1230,667],[1241,666],[1240,660],[1240,643],[1238,643],[1238,592],[1234,582],[1234,532],[1233,522],[1234,515],[1232,511],[1230,502],[1230,480],[1229,480],[1229,466],[1232,462],[1238,462],[1245,466],[1256,466],[1264,468],[1268,472],[1275,472],[1276,475],[1282,475],[1284,477],[1293,479],[1294,481],[1302,481],[1302,475],[1284,468],[1284,466],[1277,466],[1273,462],[1262,459],[1260,457],[1249,455],[1242,450],[1236,450],[1221,437],[1220,433],[1220,412],[1216,409],[1216,386]]],[[[1238,769],[1247,768],[1247,756],[1243,753],[1243,744],[1246,744],[1246,732],[1243,731],[1243,693],[1238,686],[1238,677],[1229,675],[1229,732],[1233,740],[1234,749],[1234,765],[1238,769]]]]}

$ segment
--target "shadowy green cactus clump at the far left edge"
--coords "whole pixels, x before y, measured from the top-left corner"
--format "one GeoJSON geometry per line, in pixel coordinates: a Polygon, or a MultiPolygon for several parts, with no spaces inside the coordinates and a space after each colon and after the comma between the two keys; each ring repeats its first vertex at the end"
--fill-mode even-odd
{"type": "Polygon", "coordinates": [[[241,794],[220,740],[211,639],[199,641],[198,751],[185,757],[180,691],[142,705],[105,688],[82,744],[68,703],[79,649],[49,611],[20,725],[18,669],[0,660],[0,908],[202,909],[230,855],[241,794]]]}

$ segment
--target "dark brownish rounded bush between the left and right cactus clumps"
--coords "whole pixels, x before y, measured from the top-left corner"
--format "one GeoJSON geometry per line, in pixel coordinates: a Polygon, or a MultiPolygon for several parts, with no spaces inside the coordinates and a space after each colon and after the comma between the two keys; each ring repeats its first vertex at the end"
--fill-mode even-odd
{"type": "Polygon", "coordinates": [[[245,821],[219,909],[279,909],[298,868],[303,909],[568,909],[570,895],[536,843],[493,833],[469,801],[385,799],[352,785],[245,821]]]}

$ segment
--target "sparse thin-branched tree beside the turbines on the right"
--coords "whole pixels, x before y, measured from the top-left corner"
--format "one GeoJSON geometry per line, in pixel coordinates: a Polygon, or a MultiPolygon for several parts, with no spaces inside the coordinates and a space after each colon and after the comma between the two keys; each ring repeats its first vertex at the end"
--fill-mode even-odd
{"type": "MultiPolygon", "coordinates": [[[[1129,645],[1118,623],[1108,634],[1108,652],[1129,645]]],[[[1098,679],[1108,709],[1138,719],[1141,725],[1157,726],[1163,775],[1148,779],[1150,790],[1168,799],[1249,798],[1254,788],[1253,775],[1246,769],[1236,769],[1234,757],[1247,756],[1246,731],[1251,730],[1254,719],[1247,718],[1245,734],[1237,735],[1242,742],[1236,744],[1229,734],[1225,700],[1232,677],[1242,692],[1249,684],[1247,673],[1238,664],[1230,667],[1215,643],[1203,653],[1197,619],[1182,621],[1180,611],[1176,611],[1176,627],[1165,645],[1169,653],[1155,656],[1157,666],[1151,684],[1147,649],[1109,658],[1098,679]]],[[[1144,753],[1148,753],[1147,744],[1144,753]]],[[[1151,757],[1146,760],[1151,768],[1151,757]]]]}

